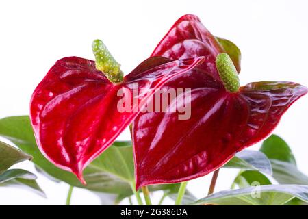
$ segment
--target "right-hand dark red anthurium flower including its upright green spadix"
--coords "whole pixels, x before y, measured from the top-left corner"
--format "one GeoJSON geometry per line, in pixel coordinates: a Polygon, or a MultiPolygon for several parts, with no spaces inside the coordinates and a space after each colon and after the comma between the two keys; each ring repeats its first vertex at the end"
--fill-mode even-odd
{"type": "Polygon", "coordinates": [[[172,109],[183,96],[191,96],[184,101],[189,118],[179,119],[180,112],[167,110],[142,112],[134,120],[136,188],[188,181],[220,168],[238,151],[266,138],[287,108],[307,93],[304,86],[285,81],[240,87],[240,58],[218,41],[196,16],[187,15],[153,52],[172,59],[203,55],[205,62],[164,85],[166,90],[191,89],[167,106],[172,109]],[[233,62],[223,52],[230,52],[233,62]]]}

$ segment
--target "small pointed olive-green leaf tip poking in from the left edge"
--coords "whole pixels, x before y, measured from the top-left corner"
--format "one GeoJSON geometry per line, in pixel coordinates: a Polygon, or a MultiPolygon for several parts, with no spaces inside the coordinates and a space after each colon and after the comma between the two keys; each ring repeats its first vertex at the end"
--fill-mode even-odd
{"type": "Polygon", "coordinates": [[[23,153],[23,151],[5,144],[4,142],[0,142],[0,174],[8,170],[10,166],[30,159],[32,159],[32,157],[23,153]]]}

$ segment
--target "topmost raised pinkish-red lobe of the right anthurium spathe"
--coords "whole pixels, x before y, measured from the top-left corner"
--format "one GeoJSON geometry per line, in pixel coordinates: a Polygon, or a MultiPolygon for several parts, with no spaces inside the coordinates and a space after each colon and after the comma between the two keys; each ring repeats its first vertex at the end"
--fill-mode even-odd
{"type": "Polygon", "coordinates": [[[205,62],[198,66],[220,81],[215,59],[223,53],[219,42],[203,26],[197,16],[188,14],[179,18],[166,36],[159,42],[151,56],[163,56],[172,60],[204,56],[205,62]],[[202,55],[201,55],[202,54],[202,55]]]}

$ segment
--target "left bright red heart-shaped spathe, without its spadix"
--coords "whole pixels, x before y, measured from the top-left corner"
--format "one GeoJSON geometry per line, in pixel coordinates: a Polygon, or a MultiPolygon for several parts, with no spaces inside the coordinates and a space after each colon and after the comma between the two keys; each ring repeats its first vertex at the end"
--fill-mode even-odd
{"type": "Polygon", "coordinates": [[[203,57],[176,61],[152,57],[114,84],[92,60],[58,60],[31,98],[31,123],[40,150],[86,183],[82,170],[114,142],[155,89],[202,61],[203,57]]]}

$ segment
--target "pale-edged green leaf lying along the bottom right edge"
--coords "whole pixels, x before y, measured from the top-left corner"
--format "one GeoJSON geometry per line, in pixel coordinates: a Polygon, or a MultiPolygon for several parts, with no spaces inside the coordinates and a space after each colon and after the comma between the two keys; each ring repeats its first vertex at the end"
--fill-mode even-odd
{"type": "Polygon", "coordinates": [[[283,205],[297,197],[308,202],[307,185],[261,185],[223,190],[192,203],[192,205],[283,205]]]}

